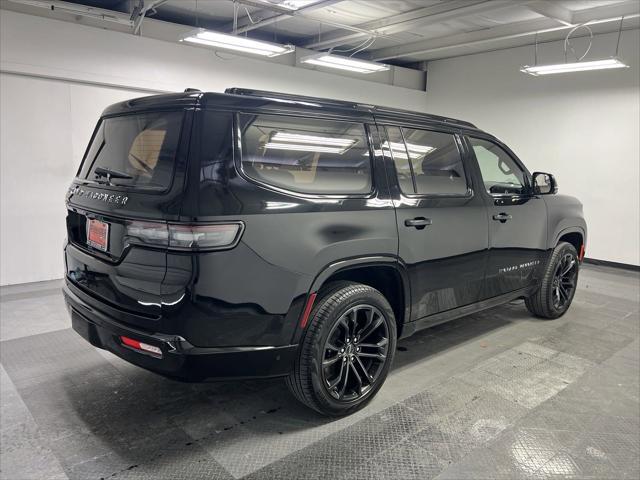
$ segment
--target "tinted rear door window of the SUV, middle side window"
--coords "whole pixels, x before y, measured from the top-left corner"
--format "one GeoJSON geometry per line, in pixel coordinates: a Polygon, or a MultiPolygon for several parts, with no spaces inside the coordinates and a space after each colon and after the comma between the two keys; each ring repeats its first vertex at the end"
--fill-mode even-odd
{"type": "Polygon", "coordinates": [[[465,195],[468,191],[458,143],[450,133],[388,128],[400,188],[419,195],[465,195]],[[409,175],[413,175],[410,181],[409,175]]]}

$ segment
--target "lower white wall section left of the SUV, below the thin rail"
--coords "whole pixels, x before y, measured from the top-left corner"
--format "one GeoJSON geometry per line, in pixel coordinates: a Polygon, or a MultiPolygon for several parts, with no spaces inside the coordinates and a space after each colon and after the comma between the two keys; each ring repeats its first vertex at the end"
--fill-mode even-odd
{"type": "Polygon", "coordinates": [[[104,106],[134,96],[0,74],[2,285],[62,276],[64,193],[104,106]]]}

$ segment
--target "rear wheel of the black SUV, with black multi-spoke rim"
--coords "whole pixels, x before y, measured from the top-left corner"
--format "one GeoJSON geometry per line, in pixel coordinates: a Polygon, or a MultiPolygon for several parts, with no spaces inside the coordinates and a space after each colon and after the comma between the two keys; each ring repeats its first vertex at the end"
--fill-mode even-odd
{"type": "Polygon", "coordinates": [[[318,294],[287,386],[300,402],[323,415],[349,415],[380,390],[395,349],[396,320],[384,295],[358,283],[330,284],[318,294]],[[378,319],[382,324],[367,333],[378,319]],[[365,376],[367,365],[373,380],[365,376]],[[335,378],[339,384],[332,388],[335,378]]]}

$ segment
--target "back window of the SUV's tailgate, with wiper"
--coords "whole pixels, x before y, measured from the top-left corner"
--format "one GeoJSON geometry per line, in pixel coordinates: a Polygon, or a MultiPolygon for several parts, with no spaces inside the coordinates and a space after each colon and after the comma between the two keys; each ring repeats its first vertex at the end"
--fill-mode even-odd
{"type": "Polygon", "coordinates": [[[143,189],[171,185],[183,112],[104,118],[91,141],[79,178],[143,189]]]}

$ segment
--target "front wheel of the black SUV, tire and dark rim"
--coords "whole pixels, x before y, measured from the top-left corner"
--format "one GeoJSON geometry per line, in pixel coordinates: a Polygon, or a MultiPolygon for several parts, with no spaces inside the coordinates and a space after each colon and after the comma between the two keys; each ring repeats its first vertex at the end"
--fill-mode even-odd
{"type": "Polygon", "coordinates": [[[527,309],[537,317],[547,319],[564,315],[576,293],[579,270],[580,262],[574,246],[567,242],[558,243],[551,253],[540,288],[525,299],[527,309]],[[558,277],[558,273],[567,268],[568,275],[558,277]]]}

